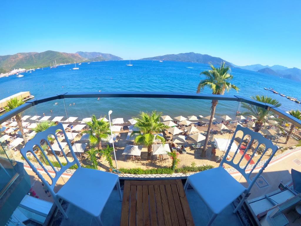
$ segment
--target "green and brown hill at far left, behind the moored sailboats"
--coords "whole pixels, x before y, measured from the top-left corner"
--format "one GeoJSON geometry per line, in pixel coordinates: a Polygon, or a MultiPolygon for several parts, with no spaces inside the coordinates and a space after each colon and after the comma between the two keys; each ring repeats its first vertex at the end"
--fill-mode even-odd
{"type": "Polygon", "coordinates": [[[73,63],[87,61],[86,58],[81,57],[77,53],[65,53],[56,51],[45,52],[27,52],[17,53],[14,55],[0,56],[0,71],[2,73],[11,71],[14,68],[37,68],[37,67],[49,67],[53,65],[53,61],[57,64],[61,63],[73,63]]]}

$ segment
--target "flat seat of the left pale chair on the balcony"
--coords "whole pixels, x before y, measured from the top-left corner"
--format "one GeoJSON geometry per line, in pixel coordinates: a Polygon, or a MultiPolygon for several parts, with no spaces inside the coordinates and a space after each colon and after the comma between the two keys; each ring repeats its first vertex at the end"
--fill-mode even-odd
{"type": "Polygon", "coordinates": [[[119,177],[116,174],[81,167],[57,192],[57,196],[97,217],[101,214],[117,180],[119,177]]]}

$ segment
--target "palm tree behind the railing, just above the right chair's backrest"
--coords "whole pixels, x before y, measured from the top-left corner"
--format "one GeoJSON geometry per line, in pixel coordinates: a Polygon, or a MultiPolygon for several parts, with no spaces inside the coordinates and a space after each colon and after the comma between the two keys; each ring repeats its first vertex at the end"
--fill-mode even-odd
{"type": "MultiPolygon", "coordinates": [[[[251,99],[256,100],[258,102],[271,104],[271,105],[274,105],[275,107],[281,106],[281,103],[279,103],[277,100],[272,99],[271,97],[267,97],[267,96],[256,95],[256,96],[251,96],[251,99]]],[[[261,130],[261,128],[262,128],[262,125],[265,124],[265,122],[268,120],[268,114],[270,111],[265,108],[255,106],[255,105],[250,105],[247,103],[242,103],[242,107],[246,108],[247,111],[240,113],[240,115],[244,115],[244,116],[248,116],[248,117],[254,116],[256,118],[254,131],[259,132],[259,130],[261,130]]],[[[273,118],[272,120],[273,121],[282,121],[282,119],[280,119],[280,118],[273,118]]]]}

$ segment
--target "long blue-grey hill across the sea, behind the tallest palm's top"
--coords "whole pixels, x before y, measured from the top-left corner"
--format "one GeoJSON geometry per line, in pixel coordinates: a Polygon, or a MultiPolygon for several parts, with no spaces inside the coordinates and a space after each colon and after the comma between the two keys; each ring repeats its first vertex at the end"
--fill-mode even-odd
{"type": "MultiPolygon", "coordinates": [[[[182,62],[193,62],[193,63],[202,63],[202,64],[215,64],[219,65],[221,62],[225,61],[219,57],[213,57],[207,54],[200,54],[194,52],[188,53],[179,53],[179,54],[168,54],[164,56],[156,56],[150,58],[142,58],[140,60],[162,60],[162,61],[182,61],[182,62]]],[[[225,61],[226,65],[232,66],[228,61],[225,61]]]]}

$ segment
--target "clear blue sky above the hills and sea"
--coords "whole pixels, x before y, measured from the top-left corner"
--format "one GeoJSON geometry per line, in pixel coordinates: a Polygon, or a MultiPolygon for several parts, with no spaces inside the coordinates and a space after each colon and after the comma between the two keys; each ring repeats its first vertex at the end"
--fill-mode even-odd
{"type": "Polygon", "coordinates": [[[236,65],[301,68],[300,0],[11,1],[0,55],[104,52],[124,59],[197,52],[236,65]]]}

